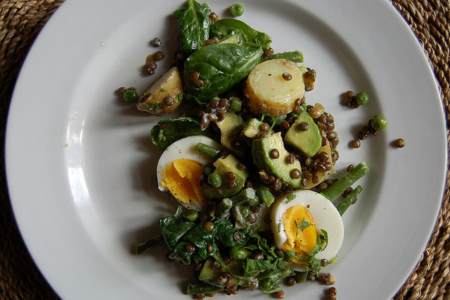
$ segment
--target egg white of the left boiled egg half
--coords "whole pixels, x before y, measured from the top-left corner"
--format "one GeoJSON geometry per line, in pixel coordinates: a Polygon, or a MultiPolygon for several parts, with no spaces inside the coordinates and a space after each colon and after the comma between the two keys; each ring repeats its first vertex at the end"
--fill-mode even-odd
{"type": "MultiPolygon", "coordinates": [[[[174,142],[170,146],[168,146],[164,152],[162,152],[160,159],[158,161],[158,165],[156,167],[156,177],[158,180],[158,189],[162,192],[169,192],[167,187],[163,187],[161,185],[162,173],[164,173],[165,168],[172,161],[176,161],[177,159],[191,159],[192,161],[197,161],[203,165],[207,163],[214,163],[214,159],[206,154],[202,154],[195,150],[195,146],[198,143],[207,144],[209,146],[214,146],[217,149],[220,149],[220,144],[214,139],[210,137],[205,137],[203,135],[193,135],[191,137],[184,137],[183,139],[179,139],[174,142]]],[[[188,204],[183,204],[186,208],[196,208],[196,207],[188,207],[188,204]]]]}

